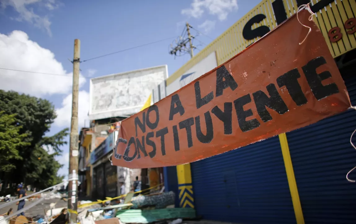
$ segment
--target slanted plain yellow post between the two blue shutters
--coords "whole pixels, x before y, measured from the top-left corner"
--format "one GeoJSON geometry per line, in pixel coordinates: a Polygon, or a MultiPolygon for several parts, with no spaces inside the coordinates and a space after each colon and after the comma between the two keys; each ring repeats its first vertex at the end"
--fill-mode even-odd
{"type": "Polygon", "coordinates": [[[302,205],[300,204],[297,182],[295,181],[292,159],[290,158],[289,146],[286,133],[280,134],[279,142],[281,143],[284,167],[286,168],[290,195],[294,208],[295,219],[297,224],[304,224],[302,205]]]}

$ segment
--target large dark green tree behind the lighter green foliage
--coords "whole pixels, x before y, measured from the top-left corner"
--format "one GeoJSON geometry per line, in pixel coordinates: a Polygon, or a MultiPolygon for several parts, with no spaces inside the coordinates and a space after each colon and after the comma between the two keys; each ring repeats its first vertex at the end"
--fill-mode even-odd
{"type": "Polygon", "coordinates": [[[0,108],[3,114],[12,116],[17,133],[21,136],[21,144],[16,146],[16,157],[8,160],[9,165],[15,168],[0,172],[1,179],[11,183],[23,182],[37,188],[49,187],[60,181],[57,172],[62,165],[55,160],[55,156],[61,155],[60,147],[67,144],[64,138],[68,135],[68,128],[53,136],[45,136],[57,116],[52,103],[14,91],[0,90],[0,108]],[[53,149],[54,153],[48,154],[48,148],[53,149]]]}

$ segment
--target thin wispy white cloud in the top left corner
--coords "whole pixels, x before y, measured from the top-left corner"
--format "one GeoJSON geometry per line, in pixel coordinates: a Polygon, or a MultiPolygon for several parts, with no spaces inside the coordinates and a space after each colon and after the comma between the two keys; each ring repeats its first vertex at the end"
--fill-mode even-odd
{"type": "MultiPolygon", "coordinates": [[[[48,35],[51,36],[51,22],[48,20],[47,16],[40,16],[33,12],[33,8],[30,6],[35,5],[36,3],[41,2],[42,0],[2,0],[2,8],[7,6],[12,6],[19,13],[19,17],[16,18],[17,21],[27,21],[33,24],[38,28],[43,28],[47,31],[48,35]]],[[[56,9],[59,6],[59,3],[56,0],[45,0],[45,7],[48,10],[56,9]]]]}

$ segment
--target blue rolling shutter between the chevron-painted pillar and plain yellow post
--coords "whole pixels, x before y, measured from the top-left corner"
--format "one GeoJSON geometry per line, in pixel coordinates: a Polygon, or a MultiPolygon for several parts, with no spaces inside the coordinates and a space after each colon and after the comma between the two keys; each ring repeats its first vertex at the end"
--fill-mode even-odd
{"type": "Polygon", "coordinates": [[[296,223],[278,137],[191,164],[197,215],[234,223],[296,223]]]}

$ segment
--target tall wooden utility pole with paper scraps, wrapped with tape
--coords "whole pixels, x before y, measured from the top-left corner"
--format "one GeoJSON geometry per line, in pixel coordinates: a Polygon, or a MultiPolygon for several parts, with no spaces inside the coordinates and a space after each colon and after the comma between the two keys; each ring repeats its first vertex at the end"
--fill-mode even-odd
{"type": "Polygon", "coordinates": [[[74,40],[72,119],[70,122],[68,212],[70,223],[77,223],[78,209],[78,94],[79,94],[80,40],[74,40]]]}

